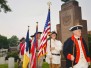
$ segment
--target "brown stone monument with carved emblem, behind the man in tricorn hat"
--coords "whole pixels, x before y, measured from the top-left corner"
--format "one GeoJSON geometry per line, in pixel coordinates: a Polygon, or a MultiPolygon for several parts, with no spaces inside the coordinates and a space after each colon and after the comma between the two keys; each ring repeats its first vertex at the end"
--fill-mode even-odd
{"type": "MultiPolygon", "coordinates": [[[[72,32],[69,31],[69,28],[76,24],[80,24],[83,25],[82,36],[85,39],[86,43],[88,43],[87,21],[82,19],[81,7],[77,1],[70,0],[62,4],[61,11],[59,11],[59,19],[60,24],[57,24],[56,26],[58,40],[61,40],[61,42],[64,43],[66,39],[72,35],[72,32]]],[[[65,60],[63,60],[62,55],[61,68],[65,68],[64,66],[65,60]]]]}

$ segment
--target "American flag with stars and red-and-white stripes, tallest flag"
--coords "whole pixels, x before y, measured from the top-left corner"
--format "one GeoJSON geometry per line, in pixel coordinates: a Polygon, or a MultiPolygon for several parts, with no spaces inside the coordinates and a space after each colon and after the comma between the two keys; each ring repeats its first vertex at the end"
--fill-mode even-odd
{"type": "Polygon", "coordinates": [[[50,9],[48,10],[47,20],[44,26],[43,35],[41,37],[41,43],[38,52],[38,58],[44,56],[46,54],[47,47],[47,36],[51,32],[51,24],[50,24],[50,9]]]}

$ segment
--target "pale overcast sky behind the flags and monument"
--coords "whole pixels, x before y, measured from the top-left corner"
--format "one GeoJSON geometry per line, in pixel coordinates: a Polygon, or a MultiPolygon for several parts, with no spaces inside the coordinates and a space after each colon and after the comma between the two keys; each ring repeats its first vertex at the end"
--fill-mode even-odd
{"type": "MultiPolygon", "coordinates": [[[[30,35],[35,33],[36,22],[39,22],[39,31],[43,31],[47,17],[48,5],[51,1],[52,31],[59,24],[61,0],[8,0],[12,12],[0,12],[0,34],[10,38],[16,35],[25,37],[27,26],[30,26],[30,35]]],[[[91,30],[91,0],[77,0],[82,7],[82,18],[87,20],[88,30],[91,30]]]]}

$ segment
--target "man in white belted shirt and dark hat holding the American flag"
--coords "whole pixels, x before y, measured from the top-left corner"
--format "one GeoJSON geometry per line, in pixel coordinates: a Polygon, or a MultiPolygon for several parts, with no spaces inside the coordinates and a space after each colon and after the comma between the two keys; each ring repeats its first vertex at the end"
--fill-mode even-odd
{"type": "Polygon", "coordinates": [[[57,33],[55,31],[51,34],[51,39],[47,42],[47,55],[46,62],[49,64],[50,68],[59,68],[61,59],[62,43],[56,39],[57,33]],[[51,43],[50,43],[51,41],[51,43]]]}

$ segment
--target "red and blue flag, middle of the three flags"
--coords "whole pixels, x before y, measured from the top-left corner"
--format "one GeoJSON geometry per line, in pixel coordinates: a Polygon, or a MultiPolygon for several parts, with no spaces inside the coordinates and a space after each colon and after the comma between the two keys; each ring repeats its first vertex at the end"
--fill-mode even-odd
{"type": "Polygon", "coordinates": [[[38,41],[36,39],[36,34],[38,33],[38,23],[36,25],[36,33],[34,36],[34,41],[31,47],[31,68],[36,68],[36,49],[38,48],[38,41]]]}

